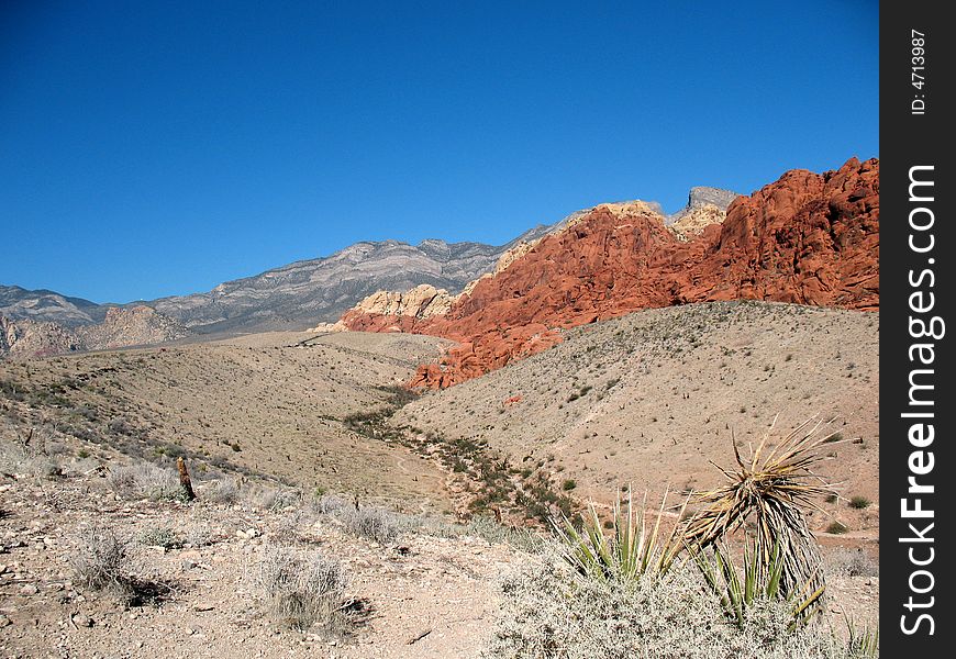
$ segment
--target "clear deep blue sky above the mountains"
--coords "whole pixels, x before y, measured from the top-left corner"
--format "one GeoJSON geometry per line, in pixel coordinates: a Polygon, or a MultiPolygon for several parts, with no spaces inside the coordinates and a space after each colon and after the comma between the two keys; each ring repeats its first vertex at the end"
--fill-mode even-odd
{"type": "Polygon", "coordinates": [[[877,2],[591,4],[2,2],[0,283],[204,291],[878,155],[877,2]]]}

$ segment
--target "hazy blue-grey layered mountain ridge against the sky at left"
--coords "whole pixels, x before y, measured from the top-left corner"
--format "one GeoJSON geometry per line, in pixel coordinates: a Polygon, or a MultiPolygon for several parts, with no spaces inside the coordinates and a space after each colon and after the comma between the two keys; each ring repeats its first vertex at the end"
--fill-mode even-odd
{"type": "Polygon", "coordinates": [[[430,283],[458,292],[492,269],[513,245],[548,230],[540,225],[500,247],[438,239],[419,245],[356,243],[327,257],[226,281],[209,292],[127,304],[97,304],[54,291],[0,284],[0,316],[77,327],[102,323],[113,308],[149,306],[199,333],[301,330],[338,320],[345,310],[380,289],[430,283]]]}

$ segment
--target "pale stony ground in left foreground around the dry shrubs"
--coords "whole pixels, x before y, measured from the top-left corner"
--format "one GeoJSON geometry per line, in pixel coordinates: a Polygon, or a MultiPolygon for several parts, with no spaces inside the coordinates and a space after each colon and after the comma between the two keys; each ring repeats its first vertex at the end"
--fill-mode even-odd
{"type": "Polygon", "coordinates": [[[4,477],[0,506],[0,651],[10,658],[473,658],[493,622],[498,574],[522,560],[474,535],[410,530],[380,545],[298,505],[124,500],[105,478],[75,473],[4,477]],[[70,560],[95,527],[129,543],[140,601],[77,580],[70,560]],[[347,634],[290,629],[271,613],[257,576],[275,547],[342,565],[356,610],[347,634]]]}

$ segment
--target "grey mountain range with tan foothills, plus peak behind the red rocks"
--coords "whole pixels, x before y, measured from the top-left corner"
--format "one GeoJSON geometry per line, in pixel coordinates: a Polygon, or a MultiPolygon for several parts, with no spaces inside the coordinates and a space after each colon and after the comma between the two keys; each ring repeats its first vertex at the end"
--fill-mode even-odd
{"type": "MultiPolygon", "coordinates": [[[[701,208],[716,211],[713,202],[726,208],[734,197],[713,188],[692,189],[687,208],[671,216],[675,227],[691,224],[701,208]]],[[[654,202],[647,205],[663,212],[654,202]]],[[[418,245],[362,242],[327,257],[226,281],[208,292],[125,304],[98,304],[49,290],[0,286],[0,356],[108,349],[196,334],[303,330],[334,323],[356,303],[381,291],[433,287],[454,297],[587,212],[577,211],[552,225],[540,224],[505,245],[441,239],[418,245]],[[129,328],[125,334],[124,327],[129,328]]],[[[723,211],[719,213],[722,217],[723,211]]]]}

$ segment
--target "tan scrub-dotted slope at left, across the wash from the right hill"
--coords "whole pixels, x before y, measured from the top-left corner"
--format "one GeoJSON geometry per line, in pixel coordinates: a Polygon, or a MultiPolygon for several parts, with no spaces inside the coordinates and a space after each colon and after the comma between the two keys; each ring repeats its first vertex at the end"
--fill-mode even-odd
{"type": "MultiPolygon", "coordinates": [[[[443,339],[269,333],[165,348],[0,361],[9,414],[149,460],[440,505],[442,476],[342,418],[383,405],[443,339]],[[27,403],[38,405],[22,411],[27,403]]],[[[413,503],[409,503],[413,502],[413,503]]]]}

